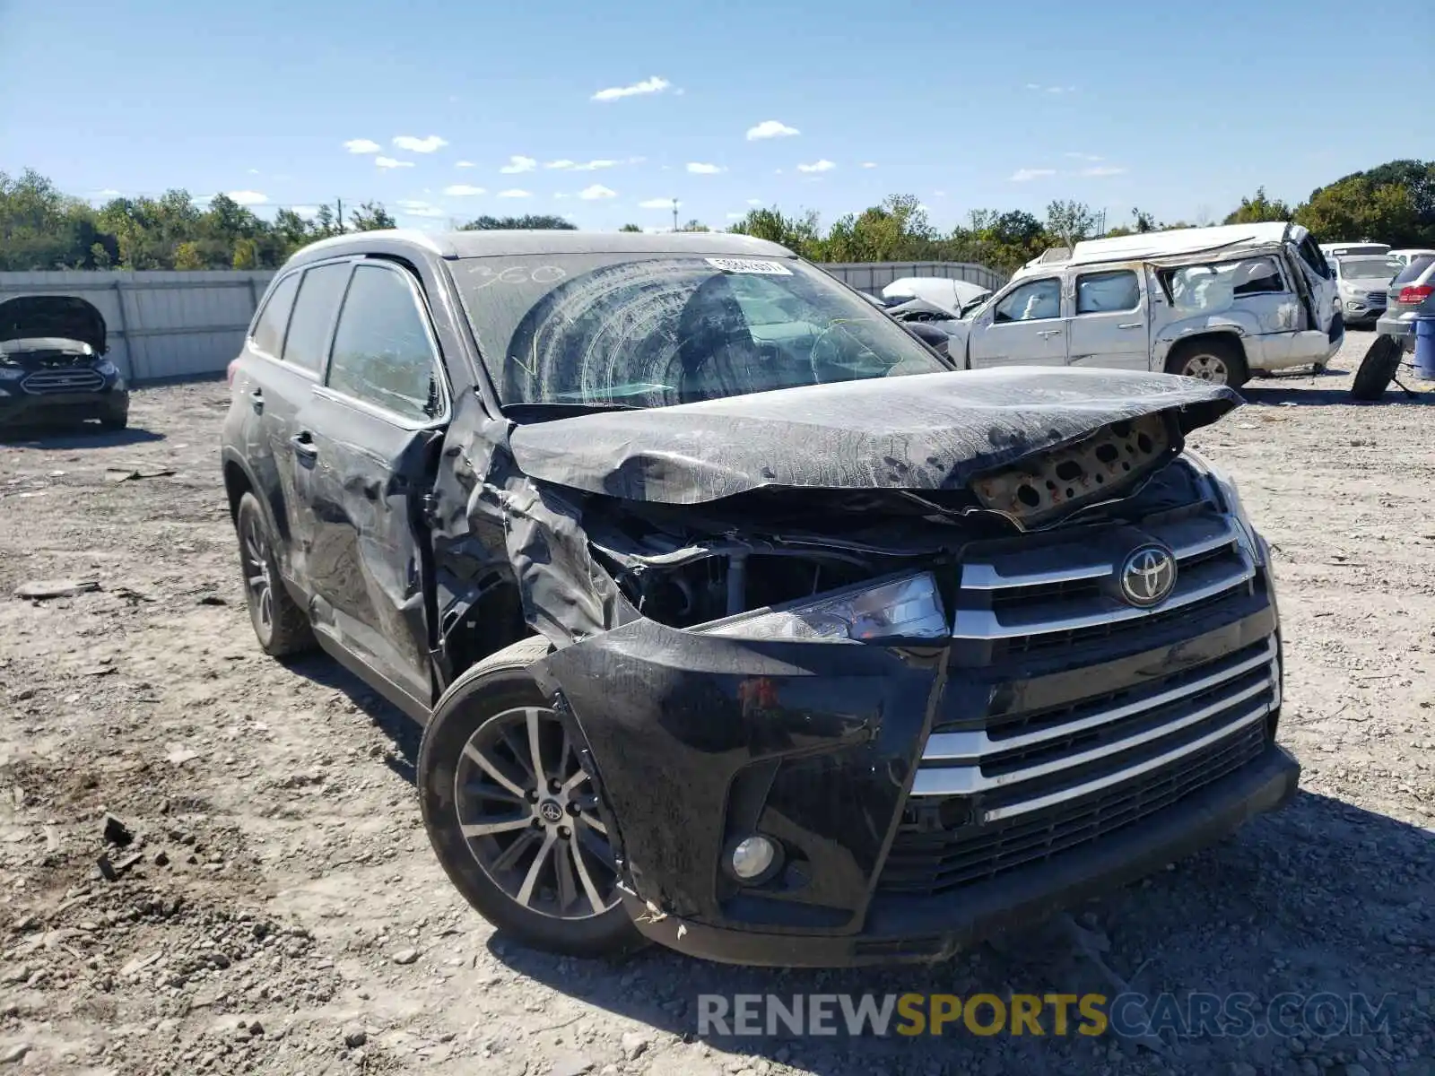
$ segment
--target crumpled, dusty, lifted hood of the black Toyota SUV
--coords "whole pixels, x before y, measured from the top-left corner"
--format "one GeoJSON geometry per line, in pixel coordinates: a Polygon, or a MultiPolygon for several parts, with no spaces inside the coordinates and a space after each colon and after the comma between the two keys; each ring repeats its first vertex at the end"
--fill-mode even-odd
{"type": "Polygon", "coordinates": [[[974,475],[1122,419],[1184,432],[1240,406],[1192,377],[1013,367],[779,389],[518,426],[514,462],[630,501],[703,504],[762,486],[961,489],[974,475]]]}

